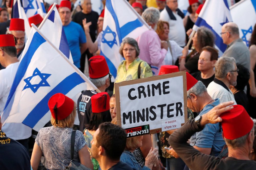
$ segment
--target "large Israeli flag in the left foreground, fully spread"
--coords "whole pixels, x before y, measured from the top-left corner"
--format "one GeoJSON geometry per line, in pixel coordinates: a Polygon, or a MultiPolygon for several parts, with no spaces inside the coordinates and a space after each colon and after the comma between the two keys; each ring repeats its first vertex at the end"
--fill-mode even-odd
{"type": "Polygon", "coordinates": [[[34,28],[22,54],[4,111],[3,123],[23,123],[35,130],[50,120],[49,98],[76,96],[87,83],[34,28]]]}

